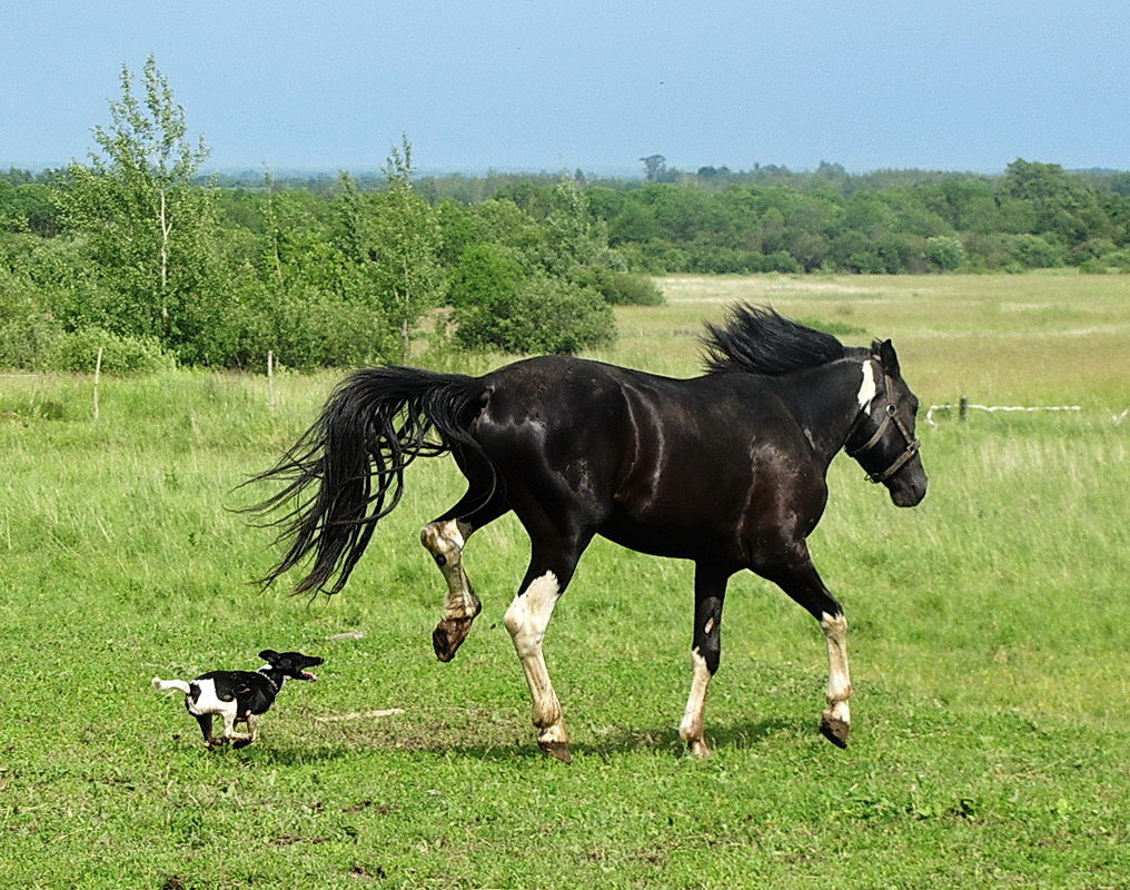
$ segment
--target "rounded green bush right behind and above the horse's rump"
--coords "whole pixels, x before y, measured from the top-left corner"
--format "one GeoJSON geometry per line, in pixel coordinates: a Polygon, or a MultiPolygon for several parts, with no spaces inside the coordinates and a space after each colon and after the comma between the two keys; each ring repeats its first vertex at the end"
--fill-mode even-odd
{"type": "Polygon", "coordinates": [[[457,310],[455,340],[468,349],[573,354],[616,338],[611,306],[591,287],[537,275],[510,300],[457,310]]]}

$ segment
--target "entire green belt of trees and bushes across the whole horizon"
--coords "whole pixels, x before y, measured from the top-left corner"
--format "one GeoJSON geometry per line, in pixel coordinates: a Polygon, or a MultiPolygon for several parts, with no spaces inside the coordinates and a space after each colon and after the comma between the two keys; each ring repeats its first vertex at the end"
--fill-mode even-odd
{"type": "Polygon", "coordinates": [[[642,180],[208,175],[150,58],[87,163],[0,174],[0,366],[292,368],[461,349],[576,352],[650,275],[1130,270],[1130,175],[1018,159],[1000,176],[757,166],[642,180]]]}

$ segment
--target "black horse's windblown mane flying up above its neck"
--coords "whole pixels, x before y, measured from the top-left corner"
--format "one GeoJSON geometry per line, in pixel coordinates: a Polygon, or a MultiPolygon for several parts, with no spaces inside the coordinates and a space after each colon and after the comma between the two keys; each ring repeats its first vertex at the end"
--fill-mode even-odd
{"type": "Polygon", "coordinates": [[[776,377],[843,358],[844,345],[831,334],[790,321],[768,306],[733,305],[725,325],[706,322],[702,337],[709,374],[745,371],[776,377]]]}

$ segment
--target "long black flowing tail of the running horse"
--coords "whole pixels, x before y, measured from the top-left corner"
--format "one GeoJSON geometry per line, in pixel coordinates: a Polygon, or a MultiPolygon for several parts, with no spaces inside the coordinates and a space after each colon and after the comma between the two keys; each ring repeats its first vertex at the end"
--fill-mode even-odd
{"type": "Polygon", "coordinates": [[[405,467],[457,447],[478,450],[468,426],[483,391],[475,378],[416,368],[365,369],[342,380],[279,463],[249,479],[286,483],[251,512],[290,508],[270,522],[281,529],[277,543],[287,551],[262,582],[273,582],[313,552],[313,565],[295,593],[338,593],[377,520],[400,501],[405,467]]]}

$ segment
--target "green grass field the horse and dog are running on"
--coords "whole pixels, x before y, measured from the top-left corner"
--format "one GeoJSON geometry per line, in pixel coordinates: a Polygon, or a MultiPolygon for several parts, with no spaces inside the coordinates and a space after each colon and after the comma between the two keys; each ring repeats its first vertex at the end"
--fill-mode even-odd
{"type": "Polygon", "coordinates": [[[233,489],[334,374],[284,374],[273,406],[255,378],[104,380],[98,422],[87,378],[0,377],[0,888],[1130,887],[1130,279],[662,284],[599,357],[695,373],[702,320],[744,299],[892,337],[927,406],[1080,407],[920,423],[911,511],[837,459],[811,543],[852,624],[850,749],[816,733],[819,629],[744,577],[715,754],[684,754],[690,567],[598,542],[546,640],[573,763],[544,758],[502,624],[511,518],[467,551],[475,632],[432,655],[443,581],[417,534],[462,493],[446,460],[412,467],[339,597],[249,586],[270,535],[233,489]],[[243,751],[206,752],[149,688],[268,647],[325,664],[243,751]]]}

